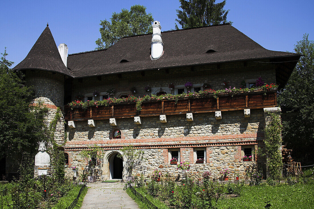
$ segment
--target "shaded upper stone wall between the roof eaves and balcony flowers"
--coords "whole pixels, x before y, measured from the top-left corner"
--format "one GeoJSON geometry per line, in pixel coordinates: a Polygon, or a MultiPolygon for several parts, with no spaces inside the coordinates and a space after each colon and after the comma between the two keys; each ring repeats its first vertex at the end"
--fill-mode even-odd
{"type": "MultiPolygon", "coordinates": [[[[117,75],[106,75],[99,77],[83,78],[81,82],[78,79],[73,80],[72,86],[72,100],[76,96],[84,94],[92,94],[95,90],[98,92],[106,92],[109,88],[115,88],[114,97],[120,95],[129,95],[130,88],[134,85],[137,88],[135,96],[142,96],[150,94],[146,92],[144,87],[149,84],[152,88],[168,88],[170,83],[174,85],[184,85],[188,81],[192,84],[203,84],[205,81],[211,85],[212,89],[225,89],[229,87],[241,88],[241,81],[244,79],[256,80],[259,77],[263,78],[265,83],[276,83],[275,68],[270,64],[262,64],[257,62],[247,62],[244,67],[244,62],[221,63],[218,65],[206,65],[171,68],[145,71],[142,75],[141,72],[128,72],[122,73],[121,78],[117,75]],[[218,69],[219,67],[219,69],[218,69]],[[230,82],[224,86],[224,81],[230,82]]],[[[174,89],[171,90],[174,94],[174,89]]],[[[99,100],[99,96],[95,97],[99,100]]]]}

